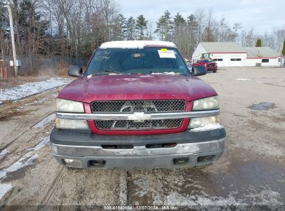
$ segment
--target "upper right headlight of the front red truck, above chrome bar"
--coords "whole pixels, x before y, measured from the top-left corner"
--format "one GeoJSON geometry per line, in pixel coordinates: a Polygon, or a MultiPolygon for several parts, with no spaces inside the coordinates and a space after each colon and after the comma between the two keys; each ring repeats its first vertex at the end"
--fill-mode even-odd
{"type": "Polygon", "coordinates": [[[193,101],[192,110],[214,110],[218,109],[218,96],[210,96],[203,99],[193,101]]]}

